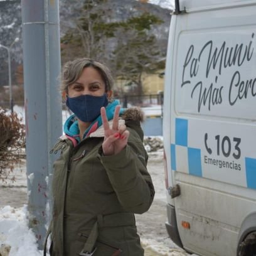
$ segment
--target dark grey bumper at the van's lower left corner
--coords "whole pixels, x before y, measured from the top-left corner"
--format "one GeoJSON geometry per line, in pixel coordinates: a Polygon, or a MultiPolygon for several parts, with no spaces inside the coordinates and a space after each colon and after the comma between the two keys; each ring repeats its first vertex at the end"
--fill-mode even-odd
{"type": "Polygon", "coordinates": [[[166,221],[165,225],[168,235],[171,238],[171,240],[173,240],[173,242],[176,243],[176,245],[183,248],[183,244],[181,242],[181,238],[179,237],[179,231],[177,227],[175,207],[167,204],[166,208],[168,221],[166,221]]]}

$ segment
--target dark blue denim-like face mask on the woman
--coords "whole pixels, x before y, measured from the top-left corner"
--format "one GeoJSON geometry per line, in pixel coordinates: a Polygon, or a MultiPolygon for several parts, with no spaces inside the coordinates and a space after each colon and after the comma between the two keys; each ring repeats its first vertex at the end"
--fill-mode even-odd
{"type": "Polygon", "coordinates": [[[80,95],[78,97],[67,97],[67,106],[79,120],[92,122],[100,115],[100,108],[108,104],[107,94],[102,96],[80,95]]]}

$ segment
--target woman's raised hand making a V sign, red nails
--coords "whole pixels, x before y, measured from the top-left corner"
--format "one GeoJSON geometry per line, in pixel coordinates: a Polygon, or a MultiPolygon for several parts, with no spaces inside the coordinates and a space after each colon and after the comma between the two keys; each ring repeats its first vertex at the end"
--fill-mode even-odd
{"type": "Polygon", "coordinates": [[[115,107],[112,129],[110,129],[105,107],[100,109],[105,134],[102,144],[104,156],[118,154],[127,145],[129,131],[126,130],[125,124],[119,125],[119,111],[120,105],[117,105],[115,107]]]}

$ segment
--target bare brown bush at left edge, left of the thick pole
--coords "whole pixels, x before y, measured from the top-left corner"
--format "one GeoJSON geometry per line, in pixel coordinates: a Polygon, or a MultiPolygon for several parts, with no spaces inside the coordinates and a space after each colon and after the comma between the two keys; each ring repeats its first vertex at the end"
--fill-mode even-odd
{"type": "Polygon", "coordinates": [[[24,158],[25,131],[16,113],[0,108],[0,179],[4,181],[24,158]]]}

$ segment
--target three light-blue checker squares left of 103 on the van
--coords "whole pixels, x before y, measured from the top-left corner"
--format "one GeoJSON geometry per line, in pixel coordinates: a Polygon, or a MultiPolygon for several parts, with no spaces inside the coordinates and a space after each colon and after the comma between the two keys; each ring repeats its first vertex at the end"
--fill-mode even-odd
{"type": "Polygon", "coordinates": [[[188,173],[202,176],[201,149],[188,146],[188,120],[175,119],[175,144],[171,144],[171,169],[176,171],[176,146],[186,148],[188,153],[188,173]]]}

